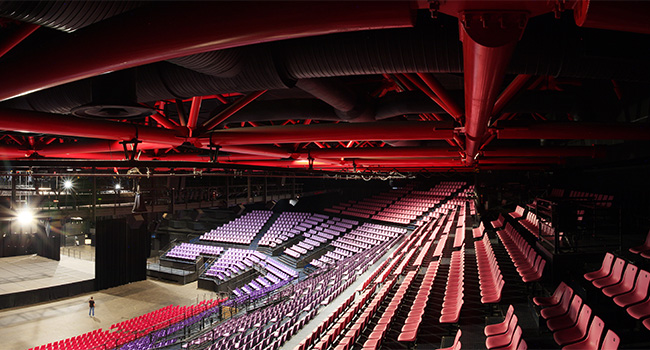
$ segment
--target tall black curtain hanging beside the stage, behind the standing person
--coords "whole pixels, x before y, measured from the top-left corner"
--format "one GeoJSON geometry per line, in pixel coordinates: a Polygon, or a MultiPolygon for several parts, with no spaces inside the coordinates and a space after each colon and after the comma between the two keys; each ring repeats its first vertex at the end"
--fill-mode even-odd
{"type": "Polygon", "coordinates": [[[146,279],[149,241],[142,215],[98,221],[95,247],[97,289],[146,279]]]}

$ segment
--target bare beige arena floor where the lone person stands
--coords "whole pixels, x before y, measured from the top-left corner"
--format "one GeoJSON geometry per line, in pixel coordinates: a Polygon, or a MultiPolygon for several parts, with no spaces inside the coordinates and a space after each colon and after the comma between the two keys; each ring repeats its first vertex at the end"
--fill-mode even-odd
{"type": "Polygon", "coordinates": [[[216,295],[197,289],[196,282],[180,286],[147,280],[59,301],[0,310],[0,348],[29,349],[95,329],[109,329],[112,324],[170,304],[190,305],[212,298],[216,295]],[[88,316],[87,300],[91,295],[97,303],[95,317],[88,316]]]}

